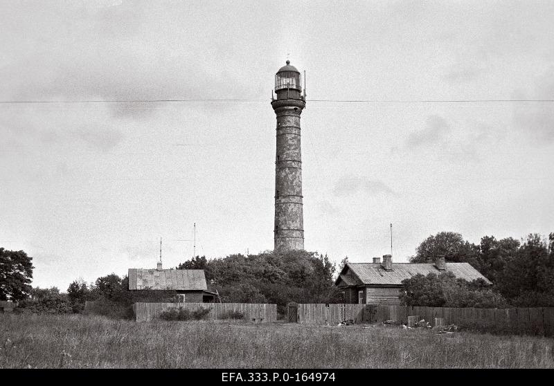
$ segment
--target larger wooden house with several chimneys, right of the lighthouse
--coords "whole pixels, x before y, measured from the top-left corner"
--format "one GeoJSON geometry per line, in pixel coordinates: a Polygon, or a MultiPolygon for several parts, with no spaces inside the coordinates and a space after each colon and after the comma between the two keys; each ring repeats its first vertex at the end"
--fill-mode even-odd
{"type": "Polygon", "coordinates": [[[393,263],[391,255],[373,258],[373,263],[347,263],[335,285],[343,289],[343,302],[360,304],[400,304],[402,280],[428,273],[452,272],[471,282],[483,279],[492,283],[469,263],[445,263],[444,257],[427,263],[393,263]]]}

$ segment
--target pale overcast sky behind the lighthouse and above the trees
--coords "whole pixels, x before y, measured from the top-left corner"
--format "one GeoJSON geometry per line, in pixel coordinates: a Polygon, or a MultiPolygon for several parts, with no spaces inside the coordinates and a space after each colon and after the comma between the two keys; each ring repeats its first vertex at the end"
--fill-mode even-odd
{"type": "Polygon", "coordinates": [[[393,261],[445,230],[546,235],[554,103],[483,100],[554,99],[553,21],[554,1],[1,0],[3,102],[245,101],[0,103],[0,246],[62,291],[154,268],[159,237],[177,266],[195,222],[199,255],[272,249],[287,57],[307,250],[370,261],[389,223],[393,261]]]}

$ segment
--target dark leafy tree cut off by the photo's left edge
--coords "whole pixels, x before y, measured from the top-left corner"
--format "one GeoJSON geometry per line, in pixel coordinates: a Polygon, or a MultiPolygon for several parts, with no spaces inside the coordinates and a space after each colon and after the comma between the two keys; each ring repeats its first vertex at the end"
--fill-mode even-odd
{"type": "Polygon", "coordinates": [[[22,250],[0,248],[0,300],[24,300],[33,279],[33,257],[22,250]]]}

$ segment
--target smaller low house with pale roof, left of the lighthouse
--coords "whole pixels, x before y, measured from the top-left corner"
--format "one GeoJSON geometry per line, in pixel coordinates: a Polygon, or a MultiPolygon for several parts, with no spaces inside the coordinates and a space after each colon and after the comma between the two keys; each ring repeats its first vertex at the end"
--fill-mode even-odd
{"type": "Polygon", "coordinates": [[[163,269],[161,261],[156,269],[129,268],[129,291],[176,291],[181,302],[213,303],[217,292],[210,291],[202,269],[163,269]]]}

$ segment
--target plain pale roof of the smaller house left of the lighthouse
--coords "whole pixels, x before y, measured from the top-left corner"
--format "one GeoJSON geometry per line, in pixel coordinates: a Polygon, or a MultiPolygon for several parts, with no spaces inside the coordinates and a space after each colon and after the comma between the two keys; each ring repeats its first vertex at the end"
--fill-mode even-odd
{"type": "Polygon", "coordinates": [[[129,268],[129,290],[197,290],[207,291],[202,269],[129,268]]]}

